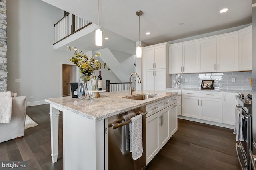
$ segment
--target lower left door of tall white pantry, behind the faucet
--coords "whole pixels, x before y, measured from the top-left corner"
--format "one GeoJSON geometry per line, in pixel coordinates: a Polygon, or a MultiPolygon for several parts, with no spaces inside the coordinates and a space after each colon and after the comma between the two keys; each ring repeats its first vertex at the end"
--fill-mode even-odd
{"type": "Polygon", "coordinates": [[[155,71],[144,70],[143,90],[155,90],[155,71]]]}

